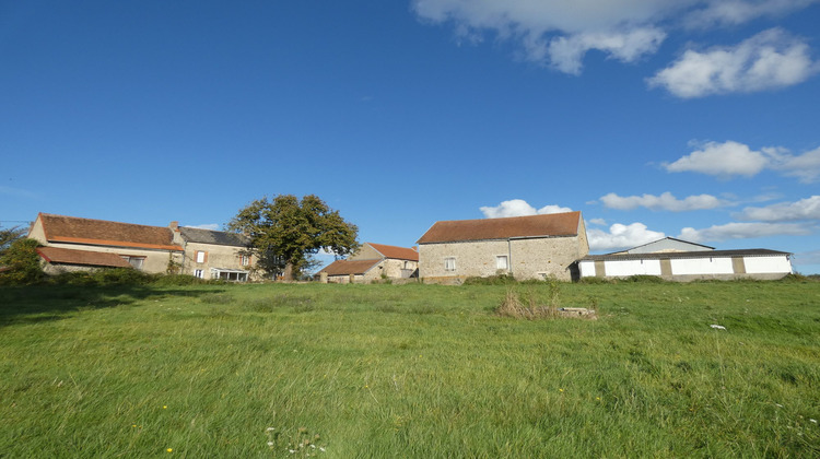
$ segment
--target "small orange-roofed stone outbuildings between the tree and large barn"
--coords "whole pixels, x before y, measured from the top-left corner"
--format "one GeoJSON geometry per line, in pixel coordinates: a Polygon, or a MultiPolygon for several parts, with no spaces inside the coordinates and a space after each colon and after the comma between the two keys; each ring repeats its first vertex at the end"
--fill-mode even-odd
{"type": "Polygon", "coordinates": [[[414,248],[364,243],[345,260],[336,260],[317,274],[323,282],[368,283],[379,279],[417,278],[419,252],[414,248]]]}

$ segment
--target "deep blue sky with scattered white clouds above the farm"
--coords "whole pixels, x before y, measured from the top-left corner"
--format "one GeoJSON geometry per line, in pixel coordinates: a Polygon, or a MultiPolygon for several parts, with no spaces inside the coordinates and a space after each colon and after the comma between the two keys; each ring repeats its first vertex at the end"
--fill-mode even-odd
{"type": "Polygon", "coordinates": [[[819,0],[0,3],[0,225],[579,210],[820,272],[819,0]]]}

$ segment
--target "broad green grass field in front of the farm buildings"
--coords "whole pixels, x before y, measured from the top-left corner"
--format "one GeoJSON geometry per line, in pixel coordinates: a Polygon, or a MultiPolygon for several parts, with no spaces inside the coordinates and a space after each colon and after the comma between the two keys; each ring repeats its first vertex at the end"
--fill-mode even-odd
{"type": "Polygon", "coordinates": [[[820,456],[820,282],[507,289],[0,287],[0,457],[820,456]]]}

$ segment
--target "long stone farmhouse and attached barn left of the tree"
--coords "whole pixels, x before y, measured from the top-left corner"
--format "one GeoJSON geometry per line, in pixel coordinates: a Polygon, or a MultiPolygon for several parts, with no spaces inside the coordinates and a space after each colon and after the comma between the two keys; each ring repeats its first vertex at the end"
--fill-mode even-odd
{"type": "Polygon", "coordinates": [[[148,226],[39,213],[28,237],[44,245],[37,251],[49,274],[131,267],[244,282],[253,271],[254,260],[239,235],[180,227],[177,222],[148,226]]]}

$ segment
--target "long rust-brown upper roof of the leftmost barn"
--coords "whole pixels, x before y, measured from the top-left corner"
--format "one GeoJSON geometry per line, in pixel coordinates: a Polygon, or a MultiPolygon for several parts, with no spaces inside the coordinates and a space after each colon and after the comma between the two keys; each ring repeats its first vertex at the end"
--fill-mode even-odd
{"type": "Polygon", "coordinates": [[[171,228],[136,225],[105,220],[40,213],[43,231],[49,243],[74,243],[113,247],[181,250],[173,242],[171,228]]]}

